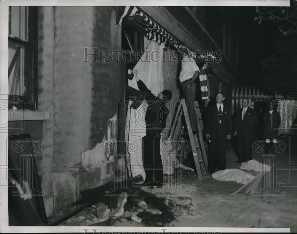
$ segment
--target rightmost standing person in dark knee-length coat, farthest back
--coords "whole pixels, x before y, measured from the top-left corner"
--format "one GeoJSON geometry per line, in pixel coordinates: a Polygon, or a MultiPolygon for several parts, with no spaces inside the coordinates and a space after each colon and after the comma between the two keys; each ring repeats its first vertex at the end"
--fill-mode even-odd
{"type": "Polygon", "coordinates": [[[281,118],[279,112],[272,108],[272,104],[269,104],[268,108],[269,110],[263,116],[265,123],[263,138],[266,139],[265,153],[269,152],[269,145],[271,144],[272,152],[275,154],[274,145],[277,143],[281,118]]]}

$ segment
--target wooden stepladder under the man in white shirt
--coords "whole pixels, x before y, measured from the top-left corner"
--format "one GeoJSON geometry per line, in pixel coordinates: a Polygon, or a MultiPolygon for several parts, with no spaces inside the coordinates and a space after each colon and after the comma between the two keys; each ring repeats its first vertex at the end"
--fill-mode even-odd
{"type": "MultiPolygon", "coordinates": [[[[195,167],[197,171],[197,176],[198,176],[198,179],[202,179],[202,175],[206,175],[206,168],[208,166],[208,162],[207,162],[205,144],[204,144],[203,135],[202,135],[203,122],[202,122],[198,102],[195,101],[194,105],[195,105],[196,117],[198,122],[198,137],[196,134],[193,135],[186,101],[185,99],[181,99],[181,102],[178,105],[176,116],[174,118],[173,125],[170,131],[170,139],[176,139],[180,135],[181,129],[183,129],[181,127],[181,115],[182,113],[184,113],[184,118],[186,120],[187,130],[189,134],[195,167]]],[[[180,137],[178,138],[178,141],[180,141],[180,137]]]]}

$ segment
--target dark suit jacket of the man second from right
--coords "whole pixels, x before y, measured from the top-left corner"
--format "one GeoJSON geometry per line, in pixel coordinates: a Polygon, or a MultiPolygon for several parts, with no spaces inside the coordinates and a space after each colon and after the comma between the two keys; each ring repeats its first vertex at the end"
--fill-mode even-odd
{"type": "Polygon", "coordinates": [[[242,109],[240,108],[235,117],[234,131],[238,134],[246,134],[248,137],[253,137],[254,127],[258,123],[257,114],[254,109],[247,107],[247,111],[242,119],[242,109]]]}

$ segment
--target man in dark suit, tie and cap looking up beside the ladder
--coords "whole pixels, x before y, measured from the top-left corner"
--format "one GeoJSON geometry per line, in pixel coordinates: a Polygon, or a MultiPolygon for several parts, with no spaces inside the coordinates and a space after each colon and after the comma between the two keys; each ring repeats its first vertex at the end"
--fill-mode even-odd
{"type": "Polygon", "coordinates": [[[226,169],[227,140],[231,139],[232,118],[231,111],[224,106],[225,93],[219,91],[216,97],[216,105],[209,107],[206,119],[206,139],[210,141],[208,146],[208,171],[214,173],[226,169]]]}

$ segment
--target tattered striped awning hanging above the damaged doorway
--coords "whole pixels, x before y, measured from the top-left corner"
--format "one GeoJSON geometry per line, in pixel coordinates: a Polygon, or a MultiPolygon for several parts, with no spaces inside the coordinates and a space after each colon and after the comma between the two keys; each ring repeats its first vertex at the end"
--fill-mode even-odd
{"type": "Polygon", "coordinates": [[[116,25],[122,23],[124,18],[135,16],[135,20],[137,23],[143,25],[146,29],[147,37],[149,39],[153,39],[158,43],[165,42],[166,39],[171,41],[174,47],[178,48],[179,45],[182,44],[176,37],[173,36],[168,30],[162,27],[156,20],[151,18],[148,14],[146,14],[139,7],[120,7],[119,14],[116,18],[116,25]],[[149,32],[149,33],[148,33],[149,32]]]}

